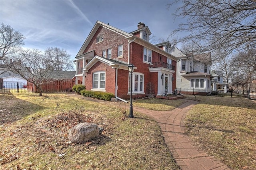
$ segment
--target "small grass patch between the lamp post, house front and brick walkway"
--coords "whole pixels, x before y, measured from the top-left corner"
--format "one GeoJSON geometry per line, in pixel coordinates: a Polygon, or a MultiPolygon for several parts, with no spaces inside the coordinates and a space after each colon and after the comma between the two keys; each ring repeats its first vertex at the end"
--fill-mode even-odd
{"type": "Polygon", "coordinates": [[[184,104],[185,100],[166,100],[166,99],[158,99],[158,98],[151,98],[151,99],[142,99],[142,100],[135,100],[133,102],[134,106],[142,107],[149,110],[157,110],[157,111],[168,111],[175,109],[177,106],[184,104]]]}

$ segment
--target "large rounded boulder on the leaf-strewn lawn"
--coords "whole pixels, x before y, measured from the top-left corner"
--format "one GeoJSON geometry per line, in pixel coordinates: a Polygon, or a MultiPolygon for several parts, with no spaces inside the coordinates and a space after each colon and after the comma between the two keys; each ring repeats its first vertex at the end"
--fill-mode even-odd
{"type": "Polygon", "coordinates": [[[94,123],[79,123],[68,132],[68,139],[72,143],[86,143],[99,136],[99,127],[94,123]]]}

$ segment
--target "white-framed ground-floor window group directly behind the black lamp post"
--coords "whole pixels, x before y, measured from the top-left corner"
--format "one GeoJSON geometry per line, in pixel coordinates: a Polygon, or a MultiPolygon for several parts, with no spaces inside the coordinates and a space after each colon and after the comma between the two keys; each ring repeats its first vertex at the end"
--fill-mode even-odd
{"type": "MultiPolygon", "coordinates": [[[[131,74],[129,74],[128,92],[131,92],[131,74]]],[[[144,74],[134,72],[132,74],[132,93],[143,93],[144,92],[144,74]]]]}

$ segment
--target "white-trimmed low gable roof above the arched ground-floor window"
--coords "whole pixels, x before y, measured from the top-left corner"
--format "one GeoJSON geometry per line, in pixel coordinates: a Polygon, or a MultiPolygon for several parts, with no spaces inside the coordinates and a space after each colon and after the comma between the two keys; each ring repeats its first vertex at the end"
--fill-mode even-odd
{"type": "Polygon", "coordinates": [[[98,61],[100,61],[104,64],[107,64],[109,66],[112,66],[112,68],[122,68],[124,70],[128,70],[128,63],[126,63],[126,62],[108,59],[108,58],[100,57],[97,55],[86,66],[84,66],[83,70],[85,70],[87,72],[98,61]]]}

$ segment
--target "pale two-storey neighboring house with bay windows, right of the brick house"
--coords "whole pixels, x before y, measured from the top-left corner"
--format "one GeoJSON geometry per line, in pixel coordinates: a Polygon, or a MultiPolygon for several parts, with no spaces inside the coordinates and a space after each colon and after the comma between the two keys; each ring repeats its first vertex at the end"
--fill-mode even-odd
{"type": "Polygon", "coordinates": [[[177,62],[176,88],[194,91],[210,91],[212,64],[211,54],[187,55],[177,47],[169,49],[169,53],[180,59],[177,62]]]}

